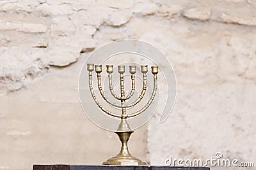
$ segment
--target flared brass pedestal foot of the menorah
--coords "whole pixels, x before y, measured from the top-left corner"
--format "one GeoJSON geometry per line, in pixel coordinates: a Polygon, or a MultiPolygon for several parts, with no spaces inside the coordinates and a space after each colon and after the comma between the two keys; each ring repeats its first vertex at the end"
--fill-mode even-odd
{"type": "Polygon", "coordinates": [[[122,142],[122,147],[118,155],[112,157],[111,159],[103,162],[103,165],[121,165],[121,166],[142,166],[147,165],[146,162],[142,162],[140,159],[133,157],[128,150],[127,142],[133,131],[117,131],[115,132],[120,141],[122,142]]]}

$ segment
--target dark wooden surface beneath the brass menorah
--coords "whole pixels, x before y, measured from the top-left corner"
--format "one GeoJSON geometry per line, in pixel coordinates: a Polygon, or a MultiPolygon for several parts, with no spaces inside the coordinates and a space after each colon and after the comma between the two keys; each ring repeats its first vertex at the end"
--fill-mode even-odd
{"type": "Polygon", "coordinates": [[[210,170],[209,167],[34,165],[33,170],[210,170]]]}

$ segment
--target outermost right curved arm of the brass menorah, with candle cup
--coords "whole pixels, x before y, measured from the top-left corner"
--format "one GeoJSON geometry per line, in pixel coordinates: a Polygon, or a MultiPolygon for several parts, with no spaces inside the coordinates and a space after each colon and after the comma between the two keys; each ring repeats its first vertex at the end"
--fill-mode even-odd
{"type": "Polygon", "coordinates": [[[157,73],[158,73],[157,66],[152,67],[152,73],[154,74],[154,89],[153,89],[150,99],[148,100],[148,103],[141,110],[136,111],[135,113],[132,113],[131,115],[127,115],[128,118],[135,117],[135,116],[141,114],[143,111],[147,110],[147,108],[150,106],[150,104],[154,100],[154,97],[156,96],[156,90],[157,90],[157,73]]]}

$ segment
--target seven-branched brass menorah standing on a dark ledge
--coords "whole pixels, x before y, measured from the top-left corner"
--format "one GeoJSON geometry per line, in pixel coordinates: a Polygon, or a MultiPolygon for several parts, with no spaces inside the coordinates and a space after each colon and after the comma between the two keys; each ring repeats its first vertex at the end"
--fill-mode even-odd
{"type": "Polygon", "coordinates": [[[127,95],[127,96],[125,96],[125,89],[124,89],[125,66],[118,66],[118,73],[120,74],[120,96],[115,94],[115,92],[113,90],[113,85],[112,85],[113,65],[107,65],[106,67],[107,67],[107,73],[108,73],[108,78],[109,78],[109,90],[110,90],[111,94],[113,95],[113,97],[115,97],[115,99],[118,99],[119,101],[121,101],[121,103],[120,104],[113,103],[113,102],[109,101],[108,97],[105,96],[105,94],[102,90],[101,77],[100,77],[100,73],[102,72],[102,65],[95,65],[95,72],[97,73],[97,83],[98,83],[99,92],[100,92],[101,96],[103,97],[103,99],[108,104],[111,104],[114,107],[122,109],[122,113],[120,115],[106,110],[106,108],[104,108],[97,100],[97,97],[95,96],[95,94],[93,92],[93,86],[92,86],[92,72],[94,71],[94,64],[87,64],[87,70],[89,72],[89,88],[90,88],[90,92],[92,94],[92,97],[93,97],[95,103],[97,104],[97,106],[99,106],[99,108],[102,111],[104,111],[108,115],[110,115],[112,117],[116,117],[116,118],[121,118],[121,122],[118,126],[118,129],[115,131],[115,133],[118,135],[118,137],[122,143],[121,150],[118,153],[118,155],[116,155],[115,157],[112,157],[111,159],[106,160],[106,162],[103,162],[103,164],[104,165],[146,165],[145,162],[142,162],[140,159],[133,157],[129,153],[127,142],[128,142],[133,131],[131,130],[131,128],[129,127],[129,124],[127,123],[127,118],[136,117],[137,115],[140,115],[141,113],[143,113],[143,111],[147,110],[147,108],[150,106],[150,104],[154,100],[154,97],[156,96],[156,90],[157,90],[158,66],[151,67],[151,72],[154,76],[154,89],[152,91],[150,98],[148,99],[147,104],[145,104],[145,106],[143,108],[141,108],[141,110],[136,111],[131,114],[127,114],[126,109],[131,108],[131,107],[135,106],[136,104],[140,103],[141,99],[143,99],[143,96],[145,95],[145,92],[147,90],[148,67],[141,66],[141,73],[143,73],[143,87],[142,87],[141,94],[138,97],[138,99],[136,99],[136,101],[134,101],[131,104],[125,104],[125,100],[130,99],[132,97],[132,95],[134,94],[136,66],[129,66],[129,72],[131,73],[132,89],[131,89],[131,92],[129,93],[129,95],[127,95]]]}

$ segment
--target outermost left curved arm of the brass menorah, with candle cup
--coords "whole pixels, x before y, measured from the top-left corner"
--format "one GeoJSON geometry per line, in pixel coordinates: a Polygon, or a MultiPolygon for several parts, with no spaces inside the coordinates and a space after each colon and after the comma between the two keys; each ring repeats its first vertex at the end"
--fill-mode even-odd
{"type": "MultiPolygon", "coordinates": [[[[102,111],[104,111],[105,113],[107,113],[108,115],[111,115],[111,116],[113,116],[113,117],[118,117],[118,118],[121,118],[121,115],[117,115],[116,113],[113,113],[113,112],[111,112],[111,111],[108,111],[108,110],[106,110],[100,103],[99,103],[99,101],[97,100],[97,98],[96,98],[96,96],[95,96],[95,94],[94,94],[94,92],[93,92],[93,87],[92,87],[92,71],[93,71],[93,65],[88,65],[88,67],[87,67],[87,70],[89,71],[89,73],[88,73],[88,76],[89,76],[89,88],[90,88],[90,92],[91,92],[91,94],[92,94],[92,97],[93,97],[93,100],[95,101],[95,103],[97,104],[97,106],[99,106],[99,108],[102,110],[102,111]]],[[[97,69],[96,69],[96,72],[101,72],[101,67],[99,68],[99,67],[97,67],[97,69]]]]}

